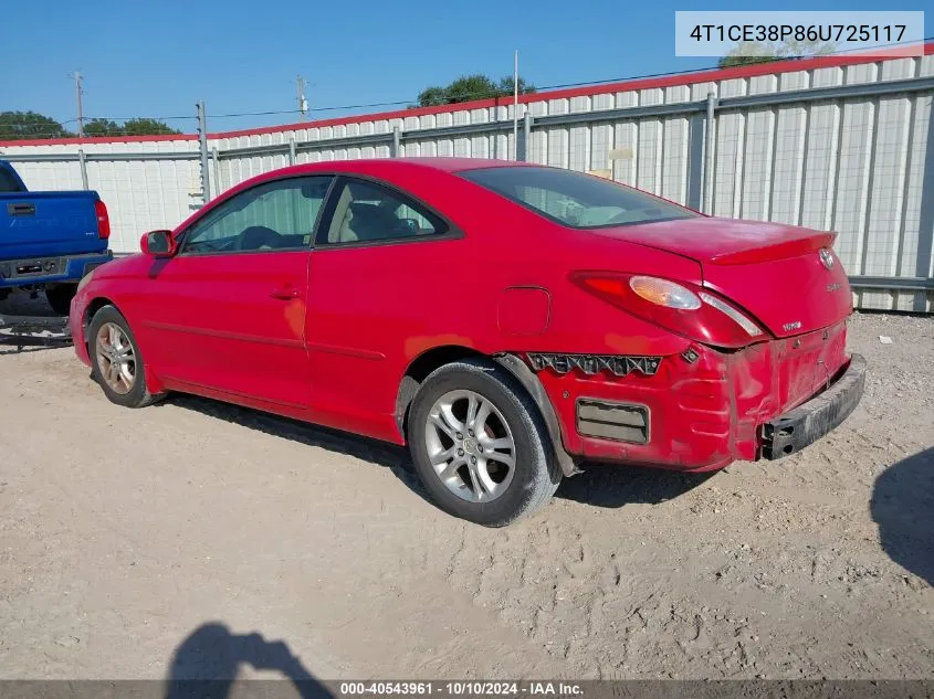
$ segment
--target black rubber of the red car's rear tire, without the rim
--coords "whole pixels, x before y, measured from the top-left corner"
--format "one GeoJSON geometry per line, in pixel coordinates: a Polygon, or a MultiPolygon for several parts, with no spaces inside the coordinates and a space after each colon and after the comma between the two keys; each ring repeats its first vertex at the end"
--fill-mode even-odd
{"type": "Polygon", "coordinates": [[[441,509],[485,527],[504,527],[544,507],[562,479],[548,432],[538,407],[505,369],[466,359],[432,372],[412,400],[408,421],[409,449],[426,490],[441,509]],[[452,493],[431,464],[426,435],[435,401],[450,391],[472,391],[490,401],[508,423],[515,443],[515,467],[506,489],[486,502],[452,493]]]}

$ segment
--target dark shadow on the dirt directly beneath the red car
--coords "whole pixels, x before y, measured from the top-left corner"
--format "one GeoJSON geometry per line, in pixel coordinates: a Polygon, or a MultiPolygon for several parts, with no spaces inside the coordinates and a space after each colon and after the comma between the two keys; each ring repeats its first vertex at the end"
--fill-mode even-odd
{"type": "MultiPolygon", "coordinates": [[[[431,502],[419,483],[409,452],[405,447],[193,395],[172,394],[165,403],[160,403],[165,404],[193,410],[283,439],[378,464],[389,468],[420,498],[431,502]]],[[[637,502],[653,505],[684,495],[711,475],[587,464],[583,474],[565,478],[555,497],[607,508],[637,502]]]]}

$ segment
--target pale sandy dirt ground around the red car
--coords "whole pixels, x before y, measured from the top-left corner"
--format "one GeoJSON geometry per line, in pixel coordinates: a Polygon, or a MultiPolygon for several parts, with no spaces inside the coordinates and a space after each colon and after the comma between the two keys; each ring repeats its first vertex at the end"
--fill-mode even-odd
{"type": "Polygon", "coordinates": [[[505,530],[402,451],[0,346],[0,677],[934,677],[934,318],[850,345],[867,395],[801,454],[595,466],[505,530]]]}

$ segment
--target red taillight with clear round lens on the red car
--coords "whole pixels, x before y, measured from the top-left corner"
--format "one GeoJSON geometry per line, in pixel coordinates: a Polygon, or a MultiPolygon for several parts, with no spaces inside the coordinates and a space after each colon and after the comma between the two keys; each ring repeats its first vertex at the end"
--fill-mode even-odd
{"type": "Polygon", "coordinates": [[[617,308],[699,342],[734,348],[764,337],[739,309],[691,284],[611,272],[576,272],[570,278],[617,308]]]}

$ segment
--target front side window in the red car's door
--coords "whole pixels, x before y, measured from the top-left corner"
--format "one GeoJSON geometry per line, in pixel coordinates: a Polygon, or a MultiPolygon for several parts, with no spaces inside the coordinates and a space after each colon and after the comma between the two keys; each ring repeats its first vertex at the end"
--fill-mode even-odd
{"type": "Polygon", "coordinates": [[[274,180],[241,192],[188,230],[181,254],[311,247],[333,179],[274,180]]]}

